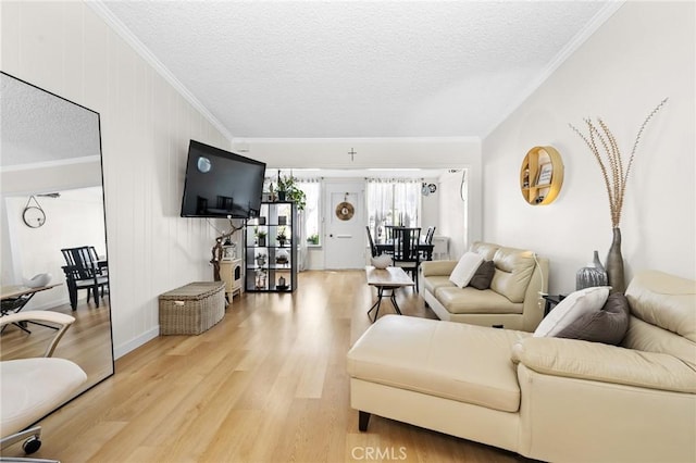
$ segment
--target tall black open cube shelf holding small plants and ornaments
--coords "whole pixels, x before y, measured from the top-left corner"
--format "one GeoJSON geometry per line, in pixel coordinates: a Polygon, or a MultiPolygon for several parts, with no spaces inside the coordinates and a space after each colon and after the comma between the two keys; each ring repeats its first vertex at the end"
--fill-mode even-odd
{"type": "Polygon", "coordinates": [[[291,292],[297,288],[297,205],[263,202],[245,232],[245,291],[291,292]]]}

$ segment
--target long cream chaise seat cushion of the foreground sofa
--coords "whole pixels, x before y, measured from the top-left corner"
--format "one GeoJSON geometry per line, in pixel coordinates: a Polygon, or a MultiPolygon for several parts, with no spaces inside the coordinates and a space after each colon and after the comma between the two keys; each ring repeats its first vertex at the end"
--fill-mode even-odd
{"type": "Polygon", "coordinates": [[[348,352],[351,377],[504,412],[520,408],[512,346],[529,333],[385,315],[348,352]],[[485,356],[482,356],[485,352],[485,356]]]}

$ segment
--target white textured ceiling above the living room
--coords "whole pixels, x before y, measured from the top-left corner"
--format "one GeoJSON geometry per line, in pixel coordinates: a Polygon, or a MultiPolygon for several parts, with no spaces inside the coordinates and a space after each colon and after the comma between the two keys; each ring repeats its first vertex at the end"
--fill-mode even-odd
{"type": "Polygon", "coordinates": [[[349,138],[484,137],[616,4],[105,1],[100,8],[227,135],[349,138]]]}

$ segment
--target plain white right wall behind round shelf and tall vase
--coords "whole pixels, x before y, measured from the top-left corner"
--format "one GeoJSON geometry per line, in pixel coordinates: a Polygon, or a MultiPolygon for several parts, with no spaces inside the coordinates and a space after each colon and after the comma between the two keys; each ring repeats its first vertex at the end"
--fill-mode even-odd
{"type": "Polygon", "coordinates": [[[627,278],[656,268],[696,276],[694,2],[626,2],[483,143],[487,240],[550,259],[550,291],[574,289],[575,272],[611,242],[609,205],[589,150],[568,126],[601,116],[630,154],[660,100],[627,184],[621,230],[627,278]],[[526,204],[526,151],[551,145],[566,167],[556,202],[526,204]]]}

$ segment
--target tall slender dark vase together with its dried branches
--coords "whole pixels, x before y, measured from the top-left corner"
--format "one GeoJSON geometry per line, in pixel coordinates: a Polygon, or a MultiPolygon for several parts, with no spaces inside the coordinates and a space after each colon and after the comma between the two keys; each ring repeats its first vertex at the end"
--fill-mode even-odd
{"type": "Polygon", "coordinates": [[[619,143],[614,138],[607,124],[597,118],[597,125],[589,118],[585,118],[584,122],[587,125],[587,135],[582,134],[574,125],[569,124],[570,127],[583,139],[589,151],[592,151],[595,160],[599,164],[601,176],[605,180],[605,187],[607,188],[607,196],[609,197],[609,212],[611,213],[611,228],[612,228],[612,241],[609,252],[607,253],[606,268],[609,286],[611,286],[611,292],[624,292],[626,289],[625,277],[623,272],[623,256],[621,255],[621,210],[623,208],[623,200],[625,198],[626,183],[629,182],[629,174],[631,173],[631,166],[633,165],[633,158],[635,151],[638,148],[643,130],[648,122],[660,111],[660,109],[667,103],[667,98],[660,101],[660,103],[648,114],[643,122],[643,125],[638,129],[638,135],[635,137],[633,149],[627,162],[622,159],[621,151],[619,150],[619,143]],[[604,148],[604,152],[599,148],[604,148]]]}

